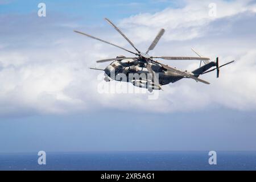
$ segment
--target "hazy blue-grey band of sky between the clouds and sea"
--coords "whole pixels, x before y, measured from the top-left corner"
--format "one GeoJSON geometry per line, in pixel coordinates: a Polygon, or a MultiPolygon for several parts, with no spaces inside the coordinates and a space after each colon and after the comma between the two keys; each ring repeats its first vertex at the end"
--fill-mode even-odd
{"type": "Polygon", "coordinates": [[[211,110],[161,115],[125,111],[113,115],[113,112],[5,119],[0,123],[0,141],[5,146],[1,150],[254,150],[256,117],[251,112],[211,110]]]}

